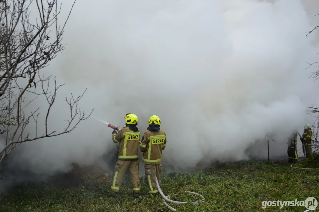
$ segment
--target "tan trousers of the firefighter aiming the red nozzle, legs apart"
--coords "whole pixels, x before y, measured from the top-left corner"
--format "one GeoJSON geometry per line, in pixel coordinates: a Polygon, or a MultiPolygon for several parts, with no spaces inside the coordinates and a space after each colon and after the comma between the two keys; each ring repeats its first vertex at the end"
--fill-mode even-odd
{"type": "Polygon", "coordinates": [[[124,174],[126,170],[129,169],[131,182],[133,186],[133,196],[139,196],[141,190],[141,184],[139,180],[139,164],[137,160],[118,160],[116,162],[114,172],[113,172],[113,180],[111,186],[111,194],[118,195],[122,180],[124,178],[124,174]]]}

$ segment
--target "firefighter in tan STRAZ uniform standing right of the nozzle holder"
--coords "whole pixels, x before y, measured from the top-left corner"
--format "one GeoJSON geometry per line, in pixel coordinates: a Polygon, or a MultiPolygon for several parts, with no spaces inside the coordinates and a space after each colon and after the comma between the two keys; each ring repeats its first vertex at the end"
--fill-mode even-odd
{"type": "Polygon", "coordinates": [[[160,185],[160,174],[162,172],[162,150],[166,146],[166,133],[159,129],[160,119],[157,115],[152,115],[148,122],[149,126],[145,131],[139,149],[143,152],[143,162],[145,167],[145,181],[149,187],[149,192],[158,195],[156,179],[160,185]]]}

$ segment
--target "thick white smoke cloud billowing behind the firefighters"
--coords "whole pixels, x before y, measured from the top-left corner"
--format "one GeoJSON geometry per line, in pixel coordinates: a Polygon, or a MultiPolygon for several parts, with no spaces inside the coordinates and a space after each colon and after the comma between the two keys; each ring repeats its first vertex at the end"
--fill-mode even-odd
{"type": "MultiPolygon", "coordinates": [[[[303,71],[318,59],[317,33],[305,37],[319,22],[314,8],[305,0],[79,1],[66,49],[46,68],[66,83],[50,129],[64,127],[65,95],[87,87],[79,106],[94,107],[92,116],[123,127],[135,113],[141,133],[151,115],[161,118],[164,168],[247,159],[258,140],[250,154],[266,157],[267,133],[271,156],[286,156],[287,136],[312,121],[305,110],[317,100],[319,84],[307,78],[315,69],[303,71]]],[[[43,99],[31,106],[39,105],[44,113],[43,99]]],[[[91,117],[70,134],[21,145],[15,161],[38,173],[68,171],[113,148],[111,132],[91,117]]]]}

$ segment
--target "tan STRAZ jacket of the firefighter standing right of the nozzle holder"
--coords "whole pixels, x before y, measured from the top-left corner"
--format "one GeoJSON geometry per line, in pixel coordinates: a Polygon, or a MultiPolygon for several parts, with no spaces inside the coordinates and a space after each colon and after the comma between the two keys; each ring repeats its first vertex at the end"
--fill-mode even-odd
{"type": "Polygon", "coordinates": [[[163,130],[145,131],[139,149],[143,152],[145,164],[160,164],[162,150],[166,146],[166,133],[163,130]]]}

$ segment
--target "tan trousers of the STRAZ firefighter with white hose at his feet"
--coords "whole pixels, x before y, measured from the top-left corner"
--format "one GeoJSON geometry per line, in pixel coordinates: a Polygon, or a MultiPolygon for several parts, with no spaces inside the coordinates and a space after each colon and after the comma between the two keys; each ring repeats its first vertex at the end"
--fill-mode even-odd
{"type": "Polygon", "coordinates": [[[148,186],[149,192],[153,195],[158,194],[157,185],[156,185],[156,179],[159,182],[160,186],[160,174],[162,173],[162,165],[161,164],[144,164],[145,167],[145,181],[146,185],[148,186]]]}

